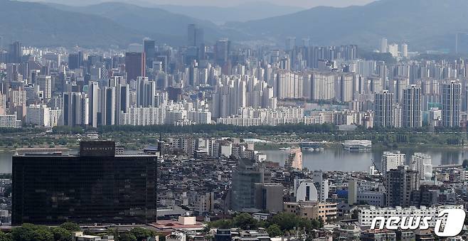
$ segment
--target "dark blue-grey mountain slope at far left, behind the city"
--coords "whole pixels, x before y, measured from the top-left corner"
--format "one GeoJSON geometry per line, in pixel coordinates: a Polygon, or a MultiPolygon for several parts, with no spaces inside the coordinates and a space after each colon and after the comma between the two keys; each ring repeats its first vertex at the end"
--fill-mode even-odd
{"type": "Polygon", "coordinates": [[[178,41],[167,34],[151,34],[108,18],[55,9],[43,4],[0,0],[0,36],[4,43],[24,45],[109,47],[142,41],[144,36],[178,41]]]}

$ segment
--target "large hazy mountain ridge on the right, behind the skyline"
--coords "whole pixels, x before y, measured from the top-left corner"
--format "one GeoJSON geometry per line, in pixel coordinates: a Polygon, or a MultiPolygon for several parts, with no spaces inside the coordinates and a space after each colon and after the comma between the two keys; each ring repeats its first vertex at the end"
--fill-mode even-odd
{"type": "Polygon", "coordinates": [[[321,45],[355,43],[377,48],[379,40],[406,42],[410,50],[454,48],[457,31],[467,31],[466,0],[380,0],[365,6],[316,7],[228,27],[284,45],[288,36],[321,45]]]}

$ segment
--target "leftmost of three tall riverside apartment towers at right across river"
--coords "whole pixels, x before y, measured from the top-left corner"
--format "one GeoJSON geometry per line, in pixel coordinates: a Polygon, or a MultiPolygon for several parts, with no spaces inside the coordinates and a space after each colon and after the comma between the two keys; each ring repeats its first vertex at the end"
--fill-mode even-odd
{"type": "Polygon", "coordinates": [[[392,127],[393,93],[383,90],[376,94],[374,100],[374,125],[378,127],[392,127]]]}

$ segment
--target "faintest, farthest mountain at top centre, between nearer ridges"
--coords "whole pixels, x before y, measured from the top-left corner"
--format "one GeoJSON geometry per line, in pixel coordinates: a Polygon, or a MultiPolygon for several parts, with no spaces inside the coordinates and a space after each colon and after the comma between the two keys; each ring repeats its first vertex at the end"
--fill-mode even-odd
{"type": "Polygon", "coordinates": [[[238,6],[230,7],[181,5],[159,5],[158,7],[176,14],[184,14],[218,24],[230,21],[250,21],[270,18],[272,16],[292,14],[304,10],[297,6],[279,6],[270,4],[267,1],[246,2],[238,6]]]}

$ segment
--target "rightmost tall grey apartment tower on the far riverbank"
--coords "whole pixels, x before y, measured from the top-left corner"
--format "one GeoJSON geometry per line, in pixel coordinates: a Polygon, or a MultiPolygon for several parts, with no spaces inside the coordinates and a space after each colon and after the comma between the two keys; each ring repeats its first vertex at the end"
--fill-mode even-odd
{"type": "Polygon", "coordinates": [[[442,125],[459,127],[462,84],[454,80],[442,85],[442,125]]]}

